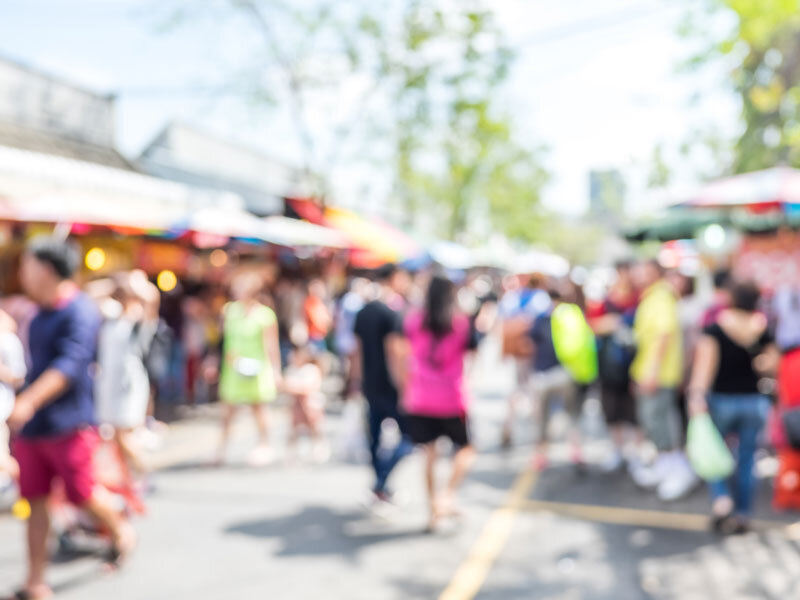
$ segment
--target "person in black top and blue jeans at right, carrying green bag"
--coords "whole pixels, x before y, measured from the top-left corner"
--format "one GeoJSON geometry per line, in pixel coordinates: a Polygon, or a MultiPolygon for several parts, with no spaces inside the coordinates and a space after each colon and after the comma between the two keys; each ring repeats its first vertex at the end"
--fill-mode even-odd
{"type": "Polygon", "coordinates": [[[731,307],[703,330],[688,396],[692,416],[708,411],[723,436],[738,439],[733,493],[727,481],[715,481],[711,496],[714,528],[740,533],[747,530],[752,512],[754,455],[769,409],[759,380],[774,371],[779,354],[767,318],[757,310],[758,288],[736,284],[731,295],[731,307]]]}

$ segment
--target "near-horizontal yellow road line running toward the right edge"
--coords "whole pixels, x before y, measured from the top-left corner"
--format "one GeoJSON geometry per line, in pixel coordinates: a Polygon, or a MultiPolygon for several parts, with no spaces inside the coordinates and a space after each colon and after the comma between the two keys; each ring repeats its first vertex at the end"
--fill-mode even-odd
{"type": "MultiPolygon", "coordinates": [[[[547,502],[544,500],[528,500],[520,510],[548,511],[565,517],[584,521],[610,523],[613,525],[629,525],[633,527],[652,527],[654,529],[675,529],[681,531],[708,531],[708,515],[695,513],[677,513],[660,510],[642,510],[620,506],[598,506],[593,504],[574,504],[565,502],[547,502]]],[[[755,529],[771,529],[785,527],[786,523],[774,521],[753,521],[755,529]]]]}

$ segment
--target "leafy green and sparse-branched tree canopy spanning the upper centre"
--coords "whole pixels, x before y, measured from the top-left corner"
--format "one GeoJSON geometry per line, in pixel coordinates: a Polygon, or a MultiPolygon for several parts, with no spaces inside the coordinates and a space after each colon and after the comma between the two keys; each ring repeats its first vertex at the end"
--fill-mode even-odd
{"type": "Polygon", "coordinates": [[[327,182],[348,161],[369,162],[394,182],[408,223],[433,219],[451,238],[474,222],[530,238],[547,174],[541,149],[514,139],[497,104],[512,53],[489,7],[208,0],[181,4],[177,21],[202,11],[252,39],[230,84],[259,110],[288,109],[309,174],[327,182]]]}

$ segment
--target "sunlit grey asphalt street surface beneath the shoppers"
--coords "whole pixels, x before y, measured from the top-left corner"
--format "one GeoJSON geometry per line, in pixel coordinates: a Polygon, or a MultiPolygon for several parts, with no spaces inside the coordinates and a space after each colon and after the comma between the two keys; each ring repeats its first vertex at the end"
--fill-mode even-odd
{"type": "MultiPolygon", "coordinates": [[[[527,469],[532,427],[519,445],[498,449],[506,371],[482,371],[474,408],[479,458],[461,494],[464,518],[443,531],[426,521],[421,461],[401,464],[393,485],[401,506],[364,506],[369,469],[336,457],[326,465],[280,460],[245,466],[253,440],[243,421],[228,466],[207,466],[216,439],[213,410],[175,425],[156,458],[140,545],[118,574],[94,558],[54,565],[50,580],[65,600],[217,600],[346,598],[481,600],[512,598],[800,598],[800,546],[791,521],[768,507],[769,529],[733,540],[708,534],[704,490],[665,505],[624,474],[577,474],[560,465],[527,469]]],[[[331,409],[335,449],[345,423],[331,409]]],[[[599,435],[596,414],[587,428],[599,435]]],[[[275,412],[280,446],[286,415],[275,412]]],[[[599,461],[602,439],[587,456],[599,461]]],[[[0,593],[23,576],[23,526],[0,516],[0,593]]],[[[0,596],[1,597],[1,596],[0,596]]]]}

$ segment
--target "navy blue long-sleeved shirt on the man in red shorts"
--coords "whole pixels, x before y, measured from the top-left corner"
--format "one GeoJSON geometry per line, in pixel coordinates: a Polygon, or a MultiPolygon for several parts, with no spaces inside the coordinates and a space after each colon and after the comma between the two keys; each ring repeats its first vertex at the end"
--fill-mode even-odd
{"type": "Polygon", "coordinates": [[[31,321],[28,335],[31,368],[26,383],[31,384],[48,369],[55,369],[69,380],[69,386],[36,411],[23,427],[23,437],[68,434],[94,424],[91,371],[99,329],[100,314],[84,294],[78,294],[65,306],[40,310],[31,321]]]}

